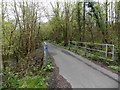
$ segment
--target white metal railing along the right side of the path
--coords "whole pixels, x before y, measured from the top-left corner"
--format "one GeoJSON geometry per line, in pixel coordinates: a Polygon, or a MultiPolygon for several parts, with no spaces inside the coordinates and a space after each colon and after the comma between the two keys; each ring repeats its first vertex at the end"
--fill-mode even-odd
{"type": "MultiPolygon", "coordinates": [[[[108,54],[111,54],[112,58],[108,59],[108,60],[114,60],[114,58],[115,58],[115,54],[114,54],[115,53],[114,52],[115,47],[114,47],[113,44],[100,44],[100,43],[90,43],[90,42],[69,41],[68,45],[69,46],[75,46],[75,47],[84,48],[85,53],[87,53],[87,50],[92,50],[92,51],[96,51],[96,52],[105,53],[106,59],[108,59],[108,54]],[[78,44],[80,44],[80,43],[82,43],[84,46],[78,46],[78,44]],[[103,46],[105,46],[105,50],[97,50],[95,48],[92,49],[92,48],[87,47],[88,45],[103,45],[103,46]],[[108,52],[108,47],[112,47],[111,52],[110,51],[108,52]]],[[[99,57],[102,57],[102,56],[99,56],[99,57]]],[[[104,58],[104,57],[102,57],[102,58],[104,58]]]]}

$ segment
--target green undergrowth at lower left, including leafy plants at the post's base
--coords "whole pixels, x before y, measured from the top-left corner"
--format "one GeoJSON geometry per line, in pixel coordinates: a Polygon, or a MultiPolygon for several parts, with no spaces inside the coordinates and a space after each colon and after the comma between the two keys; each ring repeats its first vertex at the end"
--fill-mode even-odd
{"type": "Polygon", "coordinates": [[[49,80],[50,77],[45,74],[51,74],[53,68],[50,58],[48,59],[48,65],[43,65],[41,70],[33,67],[34,70],[37,70],[37,75],[32,72],[27,72],[25,76],[19,77],[17,73],[13,74],[9,71],[9,68],[7,68],[7,70],[2,73],[2,88],[47,88],[48,83],[46,81],[49,80]]]}

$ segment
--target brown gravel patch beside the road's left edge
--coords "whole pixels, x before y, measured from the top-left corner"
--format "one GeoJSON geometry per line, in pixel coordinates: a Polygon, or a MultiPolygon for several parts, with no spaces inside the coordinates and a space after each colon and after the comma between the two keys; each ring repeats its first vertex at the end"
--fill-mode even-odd
{"type": "Polygon", "coordinates": [[[54,58],[50,56],[52,59],[52,65],[54,67],[52,75],[50,76],[50,80],[48,81],[48,89],[52,88],[69,88],[72,90],[72,87],[67,80],[59,74],[59,68],[56,66],[54,58]]]}

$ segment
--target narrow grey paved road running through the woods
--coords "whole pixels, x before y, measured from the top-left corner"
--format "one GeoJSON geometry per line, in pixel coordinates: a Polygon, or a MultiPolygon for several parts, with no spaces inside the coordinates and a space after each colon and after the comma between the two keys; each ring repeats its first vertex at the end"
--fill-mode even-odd
{"type": "Polygon", "coordinates": [[[72,88],[118,88],[117,74],[50,43],[48,51],[55,59],[60,75],[72,85],[72,88]]]}

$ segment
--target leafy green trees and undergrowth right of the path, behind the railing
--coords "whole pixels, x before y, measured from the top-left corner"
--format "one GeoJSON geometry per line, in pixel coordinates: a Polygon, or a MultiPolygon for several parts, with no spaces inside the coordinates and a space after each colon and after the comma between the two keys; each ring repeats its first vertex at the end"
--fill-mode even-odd
{"type": "MultiPolygon", "coordinates": [[[[113,44],[115,45],[115,60],[113,62],[104,61],[103,58],[97,57],[99,53],[96,52],[92,53],[97,56],[86,55],[86,57],[101,61],[107,65],[118,65],[120,62],[120,49],[118,47],[120,46],[119,3],[117,1],[107,1],[104,3],[75,1],[64,2],[62,4],[58,2],[55,4],[56,7],[52,5],[55,16],[48,21],[48,27],[50,27],[51,31],[51,33],[48,32],[48,39],[53,40],[52,42],[58,46],[62,46],[83,56],[85,54],[82,53],[83,50],[80,50],[80,48],[64,46],[68,44],[68,41],[113,44]],[[60,6],[64,7],[60,8],[60,6]],[[57,11],[54,12],[54,9],[57,9],[57,11]],[[114,12],[114,14],[111,12],[114,12]]],[[[95,46],[95,48],[105,51],[105,47],[103,46],[95,46]]]]}

